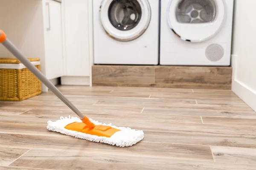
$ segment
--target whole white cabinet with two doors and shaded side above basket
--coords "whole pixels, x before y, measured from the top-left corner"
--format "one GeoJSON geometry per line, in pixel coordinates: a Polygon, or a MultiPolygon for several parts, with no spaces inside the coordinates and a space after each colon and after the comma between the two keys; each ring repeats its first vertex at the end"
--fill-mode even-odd
{"type": "MultiPolygon", "coordinates": [[[[0,1],[0,29],[26,57],[41,59],[48,79],[90,84],[92,0],[0,1]]],[[[0,57],[14,56],[0,45],[0,57]]]]}

